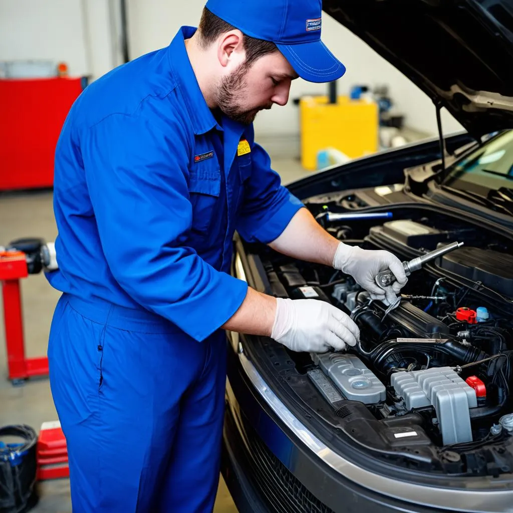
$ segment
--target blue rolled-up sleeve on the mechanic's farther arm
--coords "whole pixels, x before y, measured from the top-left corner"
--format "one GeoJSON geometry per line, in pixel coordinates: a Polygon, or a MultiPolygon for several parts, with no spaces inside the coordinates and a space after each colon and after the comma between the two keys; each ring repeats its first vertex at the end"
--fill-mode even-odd
{"type": "Polygon", "coordinates": [[[245,184],[236,229],[248,242],[267,244],[282,233],[303,203],[281,185],[269,155],[256,143],[251,146],[251,160],[251,176],[245,184]]]}

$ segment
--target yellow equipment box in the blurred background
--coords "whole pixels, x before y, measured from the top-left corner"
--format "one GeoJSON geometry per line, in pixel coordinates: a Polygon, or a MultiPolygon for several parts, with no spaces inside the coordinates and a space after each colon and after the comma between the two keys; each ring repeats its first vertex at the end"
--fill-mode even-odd
{"type": "Polygon", "coordinates": [[[335,148],[351,159],[378,151],[378,105],[368,100],[338,96],[328,103],[327,96],[304,96],[299,102],[301,164],[317,170],[317,153],[335,148]]]}

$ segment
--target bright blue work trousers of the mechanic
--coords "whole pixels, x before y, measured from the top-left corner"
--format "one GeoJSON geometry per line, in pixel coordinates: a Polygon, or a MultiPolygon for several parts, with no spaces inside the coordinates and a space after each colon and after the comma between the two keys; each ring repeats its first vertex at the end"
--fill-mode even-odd
{"type": "Polygon", "coordinates": [[[212,511],[226,338],[63,294],[48,347],[74,513],[212,511]]]}

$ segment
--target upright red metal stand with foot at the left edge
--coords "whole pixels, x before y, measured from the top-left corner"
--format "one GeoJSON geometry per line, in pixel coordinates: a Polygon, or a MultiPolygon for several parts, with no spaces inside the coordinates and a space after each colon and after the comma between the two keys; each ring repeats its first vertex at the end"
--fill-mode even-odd
{"type": "Polygon", "coordinates": [[[9,379],[47,376],[48,358],[26,358],[23,335],[22,296],[19,280],[27,278],[27,261],[21,251],[0,252],[0,281],[4,300],[5,340],[9,379]]]}

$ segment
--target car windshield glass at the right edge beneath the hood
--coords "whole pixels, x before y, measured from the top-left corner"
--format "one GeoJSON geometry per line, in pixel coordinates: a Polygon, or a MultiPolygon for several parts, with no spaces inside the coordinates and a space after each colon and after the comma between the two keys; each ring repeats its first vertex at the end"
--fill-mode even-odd
{"type": "Polygon", "coordinates": [[[513,130],[502,132],[453,164],[443,185],[485,198],[491,190],[513,187],[513,130]]]}

